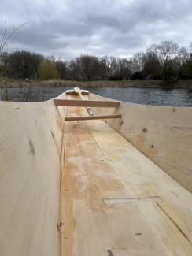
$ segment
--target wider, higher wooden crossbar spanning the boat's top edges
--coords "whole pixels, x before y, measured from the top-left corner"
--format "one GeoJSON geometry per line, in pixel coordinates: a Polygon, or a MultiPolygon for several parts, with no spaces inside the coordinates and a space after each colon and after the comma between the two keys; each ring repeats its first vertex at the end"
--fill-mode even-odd
{"type": "Polygon", "coordinates": [[[82,107],[106,107],[116,108],[120,105],[119,101],[97,101],[97,100],[68,100],[68,99],[54,99],[56,106],[82,106],[82,107]]]}

